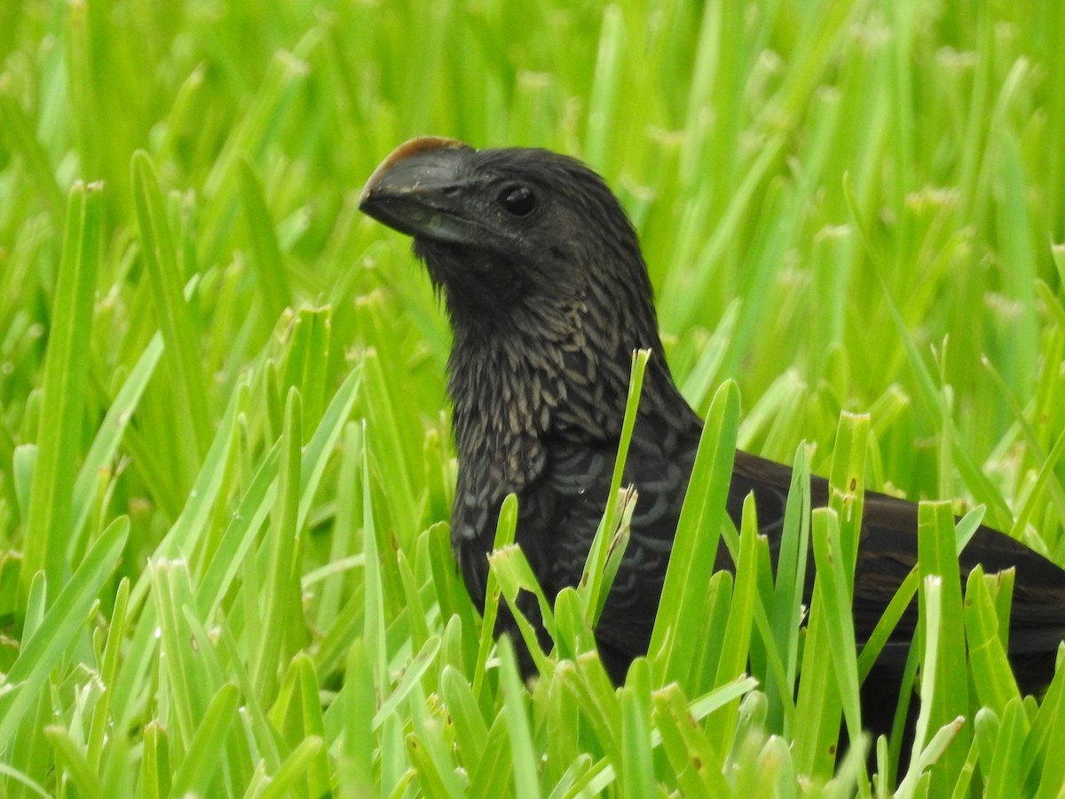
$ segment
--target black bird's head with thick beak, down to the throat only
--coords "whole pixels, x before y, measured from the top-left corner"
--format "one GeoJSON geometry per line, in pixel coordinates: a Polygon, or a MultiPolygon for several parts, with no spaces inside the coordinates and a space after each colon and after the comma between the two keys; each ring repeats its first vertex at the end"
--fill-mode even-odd
{"type": "Polygon", "coordinates": [[[657,344],[636,233],[576,159],[422,136],[384,159],[359,207],[413,237],[456,333],[570,324],[603,342],[627,327],[639,339],[624,342],[629,350],[657,344]],[[596,325],[609,329],[599,335],[596,325]]]}

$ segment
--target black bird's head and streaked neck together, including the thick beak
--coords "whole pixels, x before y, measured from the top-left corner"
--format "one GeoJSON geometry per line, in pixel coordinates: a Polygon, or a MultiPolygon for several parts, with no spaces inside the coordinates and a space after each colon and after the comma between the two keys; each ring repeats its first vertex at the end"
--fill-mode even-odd
{"type": "Polygon", "coordinates": [[[511,446],[513,436],[618,435],[640,348],[654,354],[641,410],[668,411],[698,431],[666,365],[636,232],[576,159],[423,136],[381,162],[359,207],[413,237],[443,294],[460,451],[495,441],[509,472],[526,469],[523,458],[535,472],[541,455],[511,446]]]}

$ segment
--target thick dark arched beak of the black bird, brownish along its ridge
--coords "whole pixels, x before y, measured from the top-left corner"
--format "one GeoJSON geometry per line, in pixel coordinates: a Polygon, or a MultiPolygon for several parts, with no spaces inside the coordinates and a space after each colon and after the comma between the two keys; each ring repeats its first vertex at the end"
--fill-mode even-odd
{"type": "Polygon", "coordinates": [[[474,149],[456,138],[419,136],[396,147],[370,176],[359,210],[394,230],[440,242],[471,241],[480,225],[462,214],[456,189],[474,149]]]}

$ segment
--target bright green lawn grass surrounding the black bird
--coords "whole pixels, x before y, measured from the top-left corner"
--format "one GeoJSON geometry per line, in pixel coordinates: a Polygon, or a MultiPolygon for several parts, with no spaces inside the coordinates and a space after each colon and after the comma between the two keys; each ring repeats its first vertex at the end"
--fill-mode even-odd
{"type": "Polygon", "coordinates": [[[1065,669],[1019,695],[952,512],[1065,565],[1063,51],[1054,2],[4,0],[0,796],[1058,796],[1065,669]],[[606,176],[711,420],[618,690],[603,551],[531,687],[456,573],[446,322],[357,211],[420,133],[606,176]],[[751,513],[736,575],[700,554],[737,441],[840,489],[797,482],[775,575],[751,513]],[[921,512],[923,734],[874,782],[834,751],[880,646],[852,485],[963,499],[921,512]]]}

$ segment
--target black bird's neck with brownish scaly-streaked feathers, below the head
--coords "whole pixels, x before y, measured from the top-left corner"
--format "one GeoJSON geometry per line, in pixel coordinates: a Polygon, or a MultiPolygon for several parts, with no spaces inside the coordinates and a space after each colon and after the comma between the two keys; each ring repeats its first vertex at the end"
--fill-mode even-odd
{"type": "Polygon", "coordinates": [[[462,470],[492,463],[505,491],[517,491],[542,471],[546,441],[616,441],[638,348],[652,350],[641,414],[698,435],[701,422],[673,384],[654,321],[589,329],[590,321],[583,298],[554,311],[515,309],[491,330],[453,320],[448,392],[462,470]]]}

